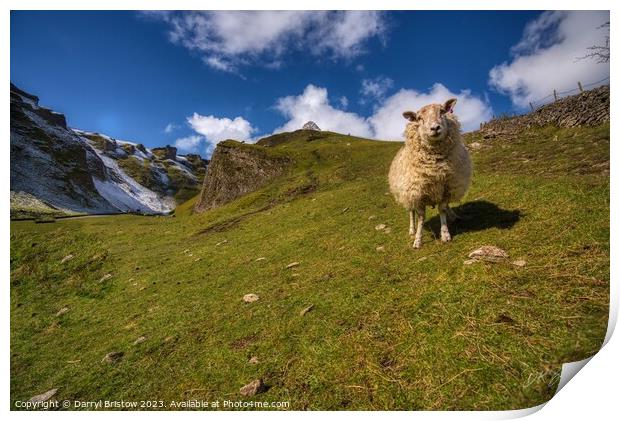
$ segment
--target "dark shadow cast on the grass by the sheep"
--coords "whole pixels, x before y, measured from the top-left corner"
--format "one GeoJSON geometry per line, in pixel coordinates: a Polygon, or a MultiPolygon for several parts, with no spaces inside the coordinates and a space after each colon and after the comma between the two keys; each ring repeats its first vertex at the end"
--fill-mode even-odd
{"type": "MultiPolygon", "coordinates": [[[[464,232],[482,231],[489,228],[509,229],[523,216],[518,209],[501,209],[486,200],[463,203],[452,209],[460,217],[456,221],[448,222],[453,237],[464,232]]],[[[440,236],[439,215],[433,216],[425,225],[433,231],[436,238],[440,236]]]]}

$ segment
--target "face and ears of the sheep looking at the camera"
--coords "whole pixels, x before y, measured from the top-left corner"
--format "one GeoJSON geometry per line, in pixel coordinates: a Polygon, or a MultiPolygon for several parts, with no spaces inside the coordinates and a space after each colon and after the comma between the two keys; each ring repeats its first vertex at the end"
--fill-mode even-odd
{"type": "Polygon", "coordinates": [[[449,131],[448,114],[454,109],[456,98],[444,104],[429,104],[420,108],[417,113],[406,111],[403,117],[413,123],[420,140],[426,143],[438,143],[446,138],[449,131]]]}

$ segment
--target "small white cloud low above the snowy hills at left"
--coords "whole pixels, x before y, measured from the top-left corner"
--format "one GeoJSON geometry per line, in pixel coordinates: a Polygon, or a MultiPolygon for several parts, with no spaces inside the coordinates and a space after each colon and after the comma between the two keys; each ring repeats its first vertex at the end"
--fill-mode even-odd
{"type": "Polygon", "coordinates": [[[194,113],[187,118],[190,127],[198,134],[205,137],[210,143],[218,143],[226,139],[251,140],[252,133],[256,128],[243,117],[218,118],[212,115],[204,116],[194,113]]]}

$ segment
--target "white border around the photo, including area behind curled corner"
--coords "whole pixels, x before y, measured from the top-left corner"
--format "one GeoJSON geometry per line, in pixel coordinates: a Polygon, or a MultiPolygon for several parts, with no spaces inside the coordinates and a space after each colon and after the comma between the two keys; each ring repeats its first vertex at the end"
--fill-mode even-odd
{"type": "MultiPolygon", "coordinates": [[[[4,13],[0,18],[0,29],[3,32],[1,38],[1,57],[2,65],[0,66],[0,72],[2,80],[5,81],[5,86],[8,87],[10,79],[10,10],[231,10],[231,9],[265,9],[265,10],[331,10],[331,9],[345,9],[345,10],[366,10],[366,9],[381,9],[381,10],[609,10],[611,9],[612,22],[615,23],[615,9],[616,4],[619,2],[611,2],[604,0],[589,0],[589,1],[557,1],[557,0],[537,0],[537,1],[518,1],[518,0],[436,0],[430,1],[397,1],[397,0],[382,0],[382,1],[343,1],[343,0],[314,0],[314,1],[297,1],[294,4],[284,0],[262,0],[260,3],[251,2],[249,0],[227,0],[222,1],[199,1],[199,0],[125,0],[125,1],[77,1],[77,0],[57,0],[54,2],[44,0],[8,0],[3,2],[4,13]]],[[[616,48],[615,41],[616,27],[611,25],[611,48],[613,57],[617,57],[618,48],[616,48]]],[[[616,60],[611,61],[612,74],[615,74],[614,70],[616,60]]],[[[5,91],[6,92],[6,91],[5,91]]],[[[612,86],[612,121],[616,121],[614,115],[615,106],[614,101],[616,98],[615,90],[612,86]]],[[[4,101],[0,101],[0,109],[2,110],[3,118],[0,122],[2,127],[2,133],[4,133],[4,151],[0,154],[0,168],[2,168],[5,182],[2,184],[2,211],[4,216],[4,222],[1,226],[2,230],[2,267],[5,277],[4,287],[2,289],[2,308],[4,309],[4,320],[2,323],[2,368],[3,378],[0,383],[2,395],[5,397],[3,406],[5,411],[9,409],[9,391],[10,391],[10,350],[9,350],[9,256],[10,256],[10,242],[9,242],[9,180],[10,180],[10,162],[9,162],[9,122],[10,122],[10,110],[9,110],[9,98],[5,96],[4,101]]],[[[611,156],[617,157],[620,152],[620,148],[617,145],[618,131],[614,123],[611,125],[611,156]]],[[[617,179],[618,171],[615,165],[615,159],[612,160],[611,166],[611,203],[610,214],[618,214],[618,198],[620,197],[620,191],[618,184],[615,182],[617,179]]],[[[611,223],[611,242],[616,244],[618,239],[617,222],[613,219],[611,223]]],[[[587,229],[587,227],[584,227],[587,229]]],[[[618,387],[618,375],[620,374],[620,363],[617,355],[620,355],[619,340],[612,337],[614,327],[617,322],[618,315],[618,282],[617,282],[617,264],[619,254],[616,249],[611,249],[611,303],[610,303],[610,319],[605,339],[606,345],[596,354],[586,365],[586,368],[579,372],[575,379],[569,381],[559,393],[551,399],[546,405],[541,405],[537,408],[518,410],[518,411],[489,411],[489,412],[313,412],[313,413],[300,413],[294,414],[288,412],[183,412],[182,415],[174,414],[174,416],[181,416],[187,418],[200,418],[204,417],[218,417],[222,419],[230,418],[252,418],[253,420],[271,420],[271,419],[284,419],[291,415],[295,417],[317,417],[321,418],[341,418],[348,416],[355,416],[356,418],[364,419],[376,416],[388,416],[390,418],[405,419],[410,417],[416,417],[418,419],[472,419],[472,420],[484,420],[484,419],[511,419],[520,416],[525,416],[530,413],[534,413],[531,419],[573,419],[589,417],[594,419],[609,418],[611,414],[617,415],[617,393],[615,392],[618,387]],[[543,408],[544,407],[544,408],[543,408]],[[542,410],[540,410],[542,408],[542,410]],[[540,410],[540,411],[538,411],[540,410]],[[536,412],[538,411],[538,412],[536,412]]],[[[565,370],[569,370],[571,367],[564,367],[565,370]]],[[[573,366],[574,368],[574,366],[573,366]]],[[[566,378],[566,377],[564,377],[566,378]]],[[[78,412],[11,412],[9,416],[15,419],[30,419],[31,417],[45,417],[49,419],[77,419],[82,418],[84,414],[78,412]]],[[[119,413],[112,414],[115,418],[129,418],[129,417],[149,417],[154,419],[164,419],[172,415],[170,412],[151,412],[151,413],[119,413]]],[[[89,413],[89,417],[94,418],[108,418],[109,413],[89,413]]]]}

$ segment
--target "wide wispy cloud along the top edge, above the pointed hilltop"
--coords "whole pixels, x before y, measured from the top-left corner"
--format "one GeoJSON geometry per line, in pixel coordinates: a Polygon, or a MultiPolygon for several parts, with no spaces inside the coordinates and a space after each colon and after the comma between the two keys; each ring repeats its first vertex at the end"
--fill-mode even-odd
{"type": "Polygon", "coordinates": [[[378,11],[182,11],[144,16],[165,22],[172,42],[228,72],[250,64],[278,67],[289,50],[350,59],[386,30],[384,14],[378,11]]]}

